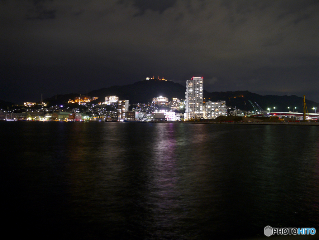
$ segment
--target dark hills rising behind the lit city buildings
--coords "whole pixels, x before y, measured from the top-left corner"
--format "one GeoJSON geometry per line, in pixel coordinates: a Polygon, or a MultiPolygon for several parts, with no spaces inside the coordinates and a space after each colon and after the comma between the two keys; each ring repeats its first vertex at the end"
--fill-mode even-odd
{"type": "MultiPolygon", "coordinates": [[[[185,98],[185,87],[179,83],[174,83],[173,81],[160,81],[160,80],[144,80],[138,81],[133,84],[124,85],[124,86],[112,86],[109,88],[102,88],[98,90],[93,90],[88,92],[88,95],[91,97],[99,97],[95,102],[105,101],[105,97],[109,95],[116,95],[120,99],[127,99],[130,101],[130,104],[135,103],[148,103],[152,102],[153,97],[168,97],[169,101],[172,101],[173,97],[179,99],[185,98]]],[[[62,102],[67,102],[70,98],[78,94],[66,94],[66,95],[57,95],[57,100],[62,102]]],[[[255,110],[252,104],[256,105],[255,102],[264,110],[267,111],[267,108],[276,107],[274,111],[287,112],[289,111],[288,107],[297,107],[295,111],[302,112],[302,97],[292,96],[273,96],[267,95],[262,96],[256,93],[251,93],[249,91],[235,91],[235,92],[207,92],[204,90],[204,98],[206,101],[226,101],[227,106],[240,108],[242,110],[255,110]],[[252,103],[250,103],[250,102],[252,103]]],[[[55,96],[45,99],[45,101],[54,101],[55,96]]],[[[313,112],[312,108],[318,106],[318,103],[315,103],[310,100],[306,100],[308,107],[308,112],[313,112]]]]}

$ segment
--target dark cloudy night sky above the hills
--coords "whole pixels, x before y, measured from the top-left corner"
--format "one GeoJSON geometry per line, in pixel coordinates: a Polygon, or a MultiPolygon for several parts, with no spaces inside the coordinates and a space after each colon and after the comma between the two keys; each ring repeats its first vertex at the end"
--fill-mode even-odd
{"type": "Polygon", "coordinates": [[[0,0],[0,99],[162,75],[319,102],[318,0],[0,0]]]}

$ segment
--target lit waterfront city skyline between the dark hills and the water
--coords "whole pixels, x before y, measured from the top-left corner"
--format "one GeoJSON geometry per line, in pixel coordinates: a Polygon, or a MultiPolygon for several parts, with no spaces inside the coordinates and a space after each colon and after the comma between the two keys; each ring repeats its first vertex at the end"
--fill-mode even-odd
{"type": "MultiPolygon", "coordinates": [[[[150,80],[150,79],[146,79],[150,80]]],[[[164,78],[163,81],[167,81],[164,78]]],[[[169,83],[169,82],[167,82],[169,83]]],[[[16,105],[16,108],[9,108],[8,111],[0,111],[0,120],[31,120],[31,121],[205,121],[207,119],[216,119],[217,121],[257,121],[264,119],[246,119],[252,115],[253,117],[267,117],[266,122],[273,121],[286,121],[286,122],[300,122],[301,113],[290,111],[289,112],[271,112],[263,110],[256,102],[248,102],[253,107],[253,110],[246,111],[246,104],[244,109],[233,108],[226,106],[226,101],[218,100],[212,102],[210,98],[206,101],[203,95],[204,80],[202,77],[192,77],[186,81],[185,101],[180,101],[176,97],[172,97],[172,101],[169,102],[167,97],[159,96],[152,97],[151,103],[137,103],[131,106],[129,111],[129,100],[119,100],[116,95],[109,95],[103,97],[104,102],[90,103],[91,101],[98,100],[99,97],[79,96],[74,100],[69,99],[66,106],[56,105],[55,107],[48,107],[48,104],[42,101],[36,104],[32,102],[25,102],[24,107],[16,105]],[[76,105],[78,104],[78,106],[76,105]],[[29,108],[28,108],[29,107],[29,108]],[[36,109],[36,108],[37,109],[36,109]],[[40,107],[40,109],[39,109],[40,107]],[[64,107],[64,108],[63,108],[64,107]],[[142,111],[142,109],[144,111],[142,111]],[[30,111],[29,111],[30,110],[30,111]],[[177,110],[177,111],[176,111],[177,110]],[[185,112],[184,112],[185,111],[185,112]],[[89,113],[86,114],[86,113],[89,113]],[[228,114],[228,118],[226,120],[228,114]],[[222,118],[219,118],[222,117],[222,118]],[[234,119],[234,118],[236,119],[234,119]],[[242,119],[244,117],[244,119],[242,119]],[[268,119],[269,118],[269,119],[268,119]],[[272,119],[271,119],[272,118],[272,119]],[[279,119],[280,118],[280,119],[279,119]]],[[[236,97],[234,97],[235,99],[236,97]]],[[[238,96],[237,98],[244,99],[244,96],[238,96]]],[[[183,100],[183,99],[182,99],[183,100]]],[[[244,101],[245,102],[245,101],[244,101]]],[[[231,100],[229,101],[231,103],[231,100]]],[[[306,107],[305,98],[303,99],[302,120],[318,120],[318,114],[308,113],[306,107]]],[[[276,107],[272,108],[273,110],[276,107]]],[[[3,109],[1,109],[3,110],[3,109]]],[[[313,107],[316,111],[317,107],[313,107]]]]}

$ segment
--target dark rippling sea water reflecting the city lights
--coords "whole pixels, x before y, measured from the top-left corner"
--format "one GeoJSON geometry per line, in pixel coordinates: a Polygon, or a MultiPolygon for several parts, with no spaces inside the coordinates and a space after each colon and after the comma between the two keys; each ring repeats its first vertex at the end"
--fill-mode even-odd
{"type": "Polygon", "coordinates": [[[0,131],[12,237],[319,234],[317,126],[2,121],[0,131]]]}

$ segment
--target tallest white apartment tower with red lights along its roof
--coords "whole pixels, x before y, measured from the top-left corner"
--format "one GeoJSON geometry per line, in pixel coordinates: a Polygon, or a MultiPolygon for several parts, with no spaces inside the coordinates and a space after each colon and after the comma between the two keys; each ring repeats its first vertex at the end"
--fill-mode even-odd
{"type": "Polygon", "coordinates": [[[203,78],[192,77],[186,81],[184,119],[204,117],[203,109],[203,78]]]}

